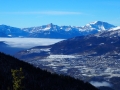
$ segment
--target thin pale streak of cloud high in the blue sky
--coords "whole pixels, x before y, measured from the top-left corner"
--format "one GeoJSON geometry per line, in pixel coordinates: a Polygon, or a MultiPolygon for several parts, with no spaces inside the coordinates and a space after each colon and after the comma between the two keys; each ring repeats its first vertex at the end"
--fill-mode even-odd
{"type": "Polygon", "coordinates": [[[1,12],[0,14],[80,15],[82,13],[68,11],[40,11],[40,12],[1,12]]]}

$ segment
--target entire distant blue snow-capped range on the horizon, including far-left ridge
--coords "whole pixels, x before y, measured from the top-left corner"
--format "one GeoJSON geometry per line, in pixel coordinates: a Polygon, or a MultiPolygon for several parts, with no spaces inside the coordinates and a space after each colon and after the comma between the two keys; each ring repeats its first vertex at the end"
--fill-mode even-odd
{"type": "Polygon", "coordinates": [[[39,37],[39,38],[72,38],[75,36],[85,36],[95,34],[100,31],[109,30],[116,26],[107,22],[95,21],[85,26],[58,26],[52,23],[38,27],[14,28],[0,25],[0,37],[39,37]]]}

